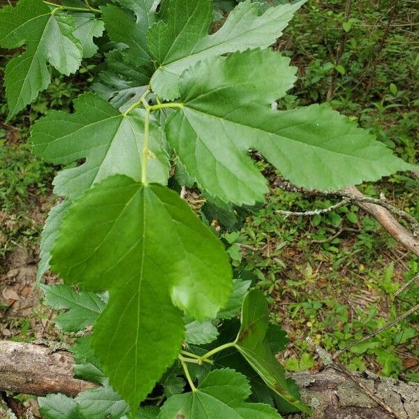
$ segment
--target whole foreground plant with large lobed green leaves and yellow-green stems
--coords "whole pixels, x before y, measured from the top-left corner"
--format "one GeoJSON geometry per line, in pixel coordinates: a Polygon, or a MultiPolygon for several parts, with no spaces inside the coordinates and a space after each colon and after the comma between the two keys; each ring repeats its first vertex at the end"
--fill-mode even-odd
{"type": "MultiPolygon", "coordinates": [[[[42,286],[52,307],[68,310],[57,318],[62,330],[93,325],[73,348],[75,372],[101,384],[75,399],[39,399],[45,418],[311,411],[274,358],[286,338],[269,322],[265,296],[233,279],[221,240],[167,186],[177,159],[213,209],[228,213],[269,191],[249,150],[309,189],[415,168],[328,105],[277,110],[296,68],[269,47],[303,3],[240,2],[212,34],[211,0],[163,0],[158,9],[152,0],[100,8],[20,0],[1,10],[0,44],[27,45],[6,66],[8,119],[47,88],[50,66],[75,73],[96,52],[94,37],[105,29],[110,39],[96,93],[31,130],[36,155],[65,166],[38,279],[50,269],[64,280],[42,286]]],[[[344,216],[358,223],[353,208],[344,216]]],[[[237,266],[240,244],[225,239],[237,266]]],[[[305,355],[297,368],[307,365],[305,355]]]]}

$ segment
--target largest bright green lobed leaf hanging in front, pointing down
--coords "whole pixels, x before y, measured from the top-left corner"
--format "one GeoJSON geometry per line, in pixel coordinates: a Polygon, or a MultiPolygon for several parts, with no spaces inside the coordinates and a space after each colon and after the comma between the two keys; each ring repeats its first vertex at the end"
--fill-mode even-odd
{"type": "Polygon", "coordinates": [[[92,346],[134,409],[179,353],[179,309],[203,321],[226,303],[231,271],[223,246],[177,193],[122,175],[78,198],[60,237],[52,270],[68,284],[110,291],[92,346]]]}

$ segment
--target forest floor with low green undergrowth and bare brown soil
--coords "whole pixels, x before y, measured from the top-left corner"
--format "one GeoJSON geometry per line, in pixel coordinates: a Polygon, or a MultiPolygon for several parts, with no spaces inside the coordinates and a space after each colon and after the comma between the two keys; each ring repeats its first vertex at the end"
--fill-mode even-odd
{"type": "MultiPolygon", "coordinates": [[[[385,34],[388,7],[381,3],[356,2],[347,32],[342,29],[341,2],[309,1],[304,6],[277,45],[291,56],[300,76],[279,107],[326,101],[335,84],[330,92],[333,108],[358,119],[396,154],[416,163],[418,5],[406,1],[400,6],[385,34]],[[336,62],[342,38],[344,51],[336,62]]],[[[9,58],[0,51],[0,77],[9,58]]],[[[51,86],[27,112],[9,124],[0,122],[0,339],[68,339],[54,328],[54,314],[35,287],[39,236],[56,201],[51,182],[57,168],[36,159],[27,138],[32,122],[50,109],[70,111],[71,101],[92,78],[88,63],[78,78],[54,75],[51,86]]],[[[1,121],[6,115],[3,92],[0,97],[1,121]]],[[[273,184],[279,174],[263,161],[259,164],[273,184]]],[[[418,180],[395,175],[361,189],[374,197],[383,193],[388,202],[419,219],[418,180]]],[[[289,371],[316,369],[306,337],[333,353],[419,300],[417,284],[394,297],[419,272],[419,258],[358,207],[348,205],[313,217],[286,218],[277,213],[332,203],[272,186],[267,203],[247,216],[241,228],[220,232],[233,265],[270,297],[272,321],[288,332],[291,343],[281,362],[289,371]]],[[[58,279],[47,274],[45,281],[58,279]]],[[[418,330],[419,314],[412,315],[355,346],[341,360],[351,369],[419,382],[418,330]]]]}

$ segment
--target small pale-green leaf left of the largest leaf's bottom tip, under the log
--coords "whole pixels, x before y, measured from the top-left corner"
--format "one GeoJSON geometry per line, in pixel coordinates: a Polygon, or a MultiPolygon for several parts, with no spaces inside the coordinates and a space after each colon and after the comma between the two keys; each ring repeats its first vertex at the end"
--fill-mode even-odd
{"type": "Polygon", "coordinates": [[[128,404],[109,385],[80,392],[75,398],[82,417],[89,419],[121,418],[128,404]]]}

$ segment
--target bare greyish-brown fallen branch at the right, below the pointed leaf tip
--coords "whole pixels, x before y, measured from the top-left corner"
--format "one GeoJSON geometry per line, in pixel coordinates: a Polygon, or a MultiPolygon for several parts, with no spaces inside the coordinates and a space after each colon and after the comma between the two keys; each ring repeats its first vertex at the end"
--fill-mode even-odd
{"type": "MultiPolygon", "coordinates": [[[[290,182],[281,179],[277,179],[274,182],[274,186],[284,189],[284,191],[303,193],[305,195],[325,196],[328,198],[351,198],[351,203],[357,205],[362,208],[362,210],[373,216],[374,219],[376,219],[376,221],[378,221],[378,223],[380,223],[381,226],[385,228],[385,230],[387,230],[395,240],[397,240],[397,242],[403,244],[406,249],[409,249],[411,252],[416,254],[416,256],[419,256],[419,237],[416,237],[413,233],[404,228],[404,226],[402,226],[402,224],[400,224],[392,214],[392,212],[397,214],[398,212],[402,212],[402,210],[397,208],[396,212],[396,207],[393,205],[390,205],[383,200],[367,197],[358,191],[355,186],[350,186],[344,189],[344,191],[318,191],[316,189],[311,191],[300,186],[295,186],[290,182]],[[390,208],[392,212],[390,212],[390,208]]],[[[403,218],[410,220],[409,217],[411,216],[404,211],[403,213],[403,218]]],[[[411,218],[413,219],[413,217],[411,218]]],[[[415,219],[413,220],[414,223],[412,225],[412,229],[417,230],[418,221],[415,219]]]]}

